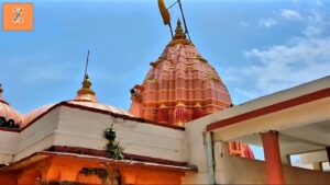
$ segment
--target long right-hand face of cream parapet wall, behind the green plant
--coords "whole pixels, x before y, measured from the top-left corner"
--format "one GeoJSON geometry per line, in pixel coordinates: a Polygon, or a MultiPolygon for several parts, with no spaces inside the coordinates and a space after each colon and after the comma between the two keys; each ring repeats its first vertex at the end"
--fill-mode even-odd
{"type": "Polygon", "coordinates": [[[103,131],[111,123],[114,124],[118,140],[125,153],[187,161],[187,147],[182,130],[66,106],[61,107],[55,144],[103,150],[107,144],[103,131]]]}

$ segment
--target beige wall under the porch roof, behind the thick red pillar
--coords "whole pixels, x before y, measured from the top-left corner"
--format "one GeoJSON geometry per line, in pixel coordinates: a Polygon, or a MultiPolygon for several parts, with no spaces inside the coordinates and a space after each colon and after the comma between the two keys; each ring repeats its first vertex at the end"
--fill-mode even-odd
{"type": "MultiPolygon", "coordinates": [[[[263,161],[227,154],[223,142],[215,143],[217,184],[266,184],[263,161]],[[222,157],[221,157],[222,153],[222,157]]],[[[283,165],[286,184],[329,184],[330,173],[283,165]]]]}

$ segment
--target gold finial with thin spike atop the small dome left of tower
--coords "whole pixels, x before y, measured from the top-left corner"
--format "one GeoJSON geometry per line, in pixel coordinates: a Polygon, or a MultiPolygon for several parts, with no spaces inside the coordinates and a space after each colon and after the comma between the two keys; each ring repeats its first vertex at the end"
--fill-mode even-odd
{"type": "Polygon", "coordinates": [[[90,88],[91,82],[90,82],[88,73],[87,73],[88,58],[89,58],[89,50],[87,53],[82,88],[79,91],[77,91],[77,96],[75,97],[75,101],[97,102],[95,92],[90,88]]]}

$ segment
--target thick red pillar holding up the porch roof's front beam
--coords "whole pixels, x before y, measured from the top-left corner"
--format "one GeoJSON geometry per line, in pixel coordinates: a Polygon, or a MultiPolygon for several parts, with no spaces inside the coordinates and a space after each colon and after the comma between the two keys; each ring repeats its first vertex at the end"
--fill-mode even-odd
{"type": "Polygon", "coordinates": [[[268,131],[261,134],[268,184],[284,184],[282,161],[278,146],[278,132],[268,131]]]}

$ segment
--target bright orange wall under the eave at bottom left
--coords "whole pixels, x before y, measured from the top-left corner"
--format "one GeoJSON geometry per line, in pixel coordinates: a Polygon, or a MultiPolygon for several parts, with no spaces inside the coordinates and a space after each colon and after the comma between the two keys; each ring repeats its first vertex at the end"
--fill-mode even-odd
{"type": "Polygon", "coordinates": [[[97,175],[82,174],[82,167],[118,170],[123,184],[180,184],[180,178],[185,175],[183,171],[122,163],[114,165],[67,157],[50,157],[35,163],[33,161],[29,162],[32,162],[32,164],[23,169],[0,172],[0,184],[36,185],[45,182],[75,182],[85,185],[101,185],[102,181],[97,175]]]}

